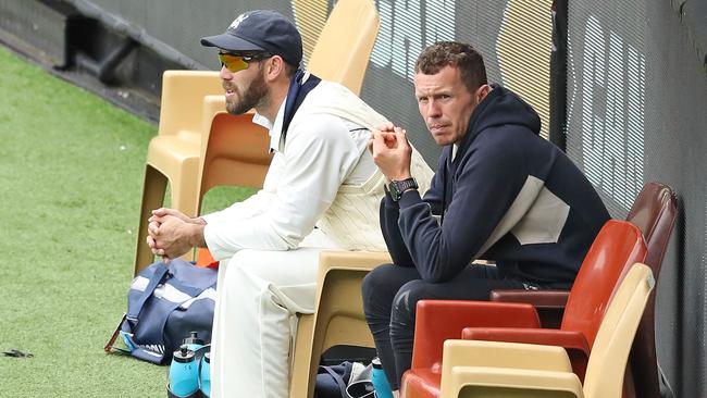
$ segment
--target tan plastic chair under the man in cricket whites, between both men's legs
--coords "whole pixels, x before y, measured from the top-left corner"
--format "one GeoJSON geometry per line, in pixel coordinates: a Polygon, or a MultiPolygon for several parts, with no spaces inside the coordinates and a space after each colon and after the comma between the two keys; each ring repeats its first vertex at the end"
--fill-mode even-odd
{"type": "Polygon", "coordinates": [[[319,258],[317,303],[302,314],[290,371],[289,397],[311,397],[324,350],[347,344],[374,347],[363,316],[361,281],[373,268],[390,262],[387,252],[323,251],[319,258]]]}

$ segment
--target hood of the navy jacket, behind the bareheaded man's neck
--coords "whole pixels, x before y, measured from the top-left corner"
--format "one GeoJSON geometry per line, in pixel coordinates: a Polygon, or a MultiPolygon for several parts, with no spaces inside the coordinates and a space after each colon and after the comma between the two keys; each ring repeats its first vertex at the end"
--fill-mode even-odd
{"type": "Polygon", "coordinates": [[[500,125],[519,125],[539,135],[541,119],[530,104],[499,85],[494,84],[492,88],[472,112],[460,149],[468,148],[484,129],[500,125]]]}

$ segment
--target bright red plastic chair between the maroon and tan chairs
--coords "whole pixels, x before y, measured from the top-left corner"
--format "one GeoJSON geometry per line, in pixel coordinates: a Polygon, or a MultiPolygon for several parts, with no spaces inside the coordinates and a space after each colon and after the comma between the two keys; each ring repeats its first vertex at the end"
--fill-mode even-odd
{"type": "Polygon", "coordinates": [[[446,339],[472,338],[565,347],[572,368],[584,376],[609,298],[631,264],[644,261],[646,245],[636,226],[609,220],[590,248],[570,293],[560,329],[539,328],[532,304],[488,301],[418,302],[412,368],[402,376],[404,397],[437,397],[439,363],[446,339]],[[493,318],[486,318],[487,313],[493,318]],[[521,318],[521,313],[525,314],[521,318]],[[451,316],[451,318],[449,318],[451,316]],[[513,327],[500,322],[514,322],[513,327]],[[526,322],[525,325],[522,323],[526,322]],[[463,331],[459,327],[463,325],[463,331]],[[472,326],[472,327],[468,327],[472,326]]]}

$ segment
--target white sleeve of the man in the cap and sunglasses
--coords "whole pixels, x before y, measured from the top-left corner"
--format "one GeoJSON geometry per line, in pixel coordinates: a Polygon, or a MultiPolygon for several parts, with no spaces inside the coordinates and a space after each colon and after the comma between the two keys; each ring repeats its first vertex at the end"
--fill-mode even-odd
{"type": "Polygon", "coordinates": [[[284,152],[273,159],[269,187],[253,203],[260,212],[243,216],[236,207],[206,217],[204,239],[216,260],[246,248],[296,248],[358,163],[360,150],[339,117],[315,114],[300,121],[290,125],[284,152]]]}

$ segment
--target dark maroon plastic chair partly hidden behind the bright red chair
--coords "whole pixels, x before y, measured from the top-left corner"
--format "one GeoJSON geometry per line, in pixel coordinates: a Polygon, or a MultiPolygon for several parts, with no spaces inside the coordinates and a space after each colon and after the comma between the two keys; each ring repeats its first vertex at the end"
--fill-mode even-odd
{"type": "MultiPolygon", "coordinates": [[[[656,281],[660,276],[660,266],[668,248],[668,242],[675,225],[678,206],[673,190],[660,183],[647,183],[636,197],[629,211],[627,221],[636,225],[646,239],[648,253],[645,263],[650,266],[656,281]]],[[[538,308],[541,323],[553,327],[561,319],[568,291],[524,291],[494,290],[492,301],[529,302],[538,308]]],[[[646,311],[638,325],[629,360],[632,378],[637,397],[659,398],[658,360],[656,357],[654,291],[648,298],[646,311]]]]}

